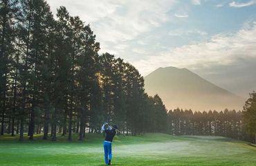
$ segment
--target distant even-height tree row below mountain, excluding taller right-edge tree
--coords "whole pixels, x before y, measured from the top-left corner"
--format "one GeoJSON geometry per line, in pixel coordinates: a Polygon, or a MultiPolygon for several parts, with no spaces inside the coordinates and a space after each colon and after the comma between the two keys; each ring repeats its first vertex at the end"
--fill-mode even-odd
{"type": "Polygon", "coordinates": [[[241,111],[203,111],[174,109],[168,112],[168,131],[173,135],[226,136],[243,139],[241,111]]]}

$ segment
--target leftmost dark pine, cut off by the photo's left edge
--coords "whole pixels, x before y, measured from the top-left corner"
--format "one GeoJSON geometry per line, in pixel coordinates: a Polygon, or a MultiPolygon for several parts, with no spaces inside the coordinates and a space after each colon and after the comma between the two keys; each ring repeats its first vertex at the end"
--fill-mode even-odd
{"type": "Polygon", "coordinates": [[[1,112],[1,135],[3,135],[6,115],[7,93],[10,88],[10,62],[15,52],[15,21],[19,13],[17,0],[3,0],[0,2],[0,112],[1,112]]]}

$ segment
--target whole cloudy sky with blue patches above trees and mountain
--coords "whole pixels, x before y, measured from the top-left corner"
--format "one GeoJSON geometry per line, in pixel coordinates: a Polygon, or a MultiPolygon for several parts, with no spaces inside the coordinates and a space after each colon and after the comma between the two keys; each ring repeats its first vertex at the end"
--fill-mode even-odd
{"type": "Polygon", "coordinates": [[[256,90],[256,0],[47,0],[91,24],[100,53],[142,75],[188,68],[248,98],[256,90]]]}

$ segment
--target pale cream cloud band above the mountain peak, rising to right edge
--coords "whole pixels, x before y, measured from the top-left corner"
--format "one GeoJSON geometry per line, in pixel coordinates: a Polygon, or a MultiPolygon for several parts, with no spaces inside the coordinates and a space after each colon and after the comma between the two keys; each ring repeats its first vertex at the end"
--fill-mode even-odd
{"type": "MultiPolygon", "coordinates": [[[[235,34],[214,35],[208,42],[189,44],[132,62],[146,75],[158,67],[176,66],[210,68],[211,66],[232,66],[241,58],[255,59],[256,62],[256,22],[241,28],[235,34]]],[[[239,64],[239,63],[238,63],[239,64]]]]}

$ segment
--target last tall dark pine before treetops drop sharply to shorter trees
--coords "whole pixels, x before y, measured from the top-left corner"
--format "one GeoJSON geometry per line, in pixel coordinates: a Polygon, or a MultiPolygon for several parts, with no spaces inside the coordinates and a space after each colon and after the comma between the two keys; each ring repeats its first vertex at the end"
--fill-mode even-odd
{"type": "Polygon", "coordinates": [[[95,76],[98,68],[95,68],[95,60],[98,57],[98,50],[100,44],[95,42],[95,35],[89,25],[82,28],[82,51],[78,57],[77,82],[79,86],[79,106],[80,106],[80,137],[83,140],[85,133],[86,118],[88,118],[89,111],[91,110],[91,99],[93,98],[93,84],[95,84],[95,76]]]}

